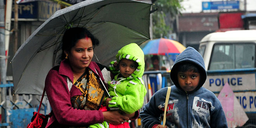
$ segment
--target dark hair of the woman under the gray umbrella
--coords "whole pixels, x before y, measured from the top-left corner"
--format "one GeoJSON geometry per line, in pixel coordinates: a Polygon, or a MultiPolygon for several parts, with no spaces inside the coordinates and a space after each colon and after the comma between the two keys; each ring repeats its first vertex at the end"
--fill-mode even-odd
{"type": "Polygon", "coordinates": [[[62,37],[62,57],[61,59],[65,59],[66,55],[64,54],[64,51],[70,52],[71,48],[76,45],[78,40],[86,38],[90,38],[92,40],[92,46],[93,48],[95,45],[99,45],[99,40],[95,38],[90,31],[88,31],[86,28],[70,28],[67,29],[62,37]]]}

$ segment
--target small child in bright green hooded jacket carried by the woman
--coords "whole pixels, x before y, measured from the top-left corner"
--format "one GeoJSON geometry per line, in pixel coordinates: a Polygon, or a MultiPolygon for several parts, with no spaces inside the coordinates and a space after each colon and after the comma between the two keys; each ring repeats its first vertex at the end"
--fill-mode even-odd
{"type": "MultiPolygon", "coordinates": [[[[110,98],[106,99],[106,105],[110,110],[121,110],[123,114],[132,114],[138,111],[143,105],[147,90],[142,80],[144,74],[145,62],[144,52],[136,43],[130,43],[118,51],[116,62],[111,62],[110,69],[115,71],[119,69],[112,81],[108,82],[110,98]]],[[[111,126],[111,124],[102,123],[103,126],[109,125],[109,128],[130,128],[128,122],[123,122],[121,126],[111,126]]],[[[99,124],[89,126],[95,127],[99,124]]]]}

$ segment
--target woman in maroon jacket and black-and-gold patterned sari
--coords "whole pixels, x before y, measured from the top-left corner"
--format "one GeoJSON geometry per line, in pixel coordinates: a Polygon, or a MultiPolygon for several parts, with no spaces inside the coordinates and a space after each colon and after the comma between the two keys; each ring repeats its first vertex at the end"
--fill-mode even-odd
{"type": "Polygon", "coordinates": [[[138,112],[124,116],[118,111],[100,110],[106,94],[104,86],[107,88],[102,74],[107,70],[92,61],[95,45],[99,45],[99,41],[85,28],[70,28],[64,33],[63,61],[48,72],[45,80],[52,107],[46,128],[86,127],[103,121],[118,125],[138,117],[138,112]],[[99,78],[104,81],[104,86],[99,78]],[[73,84],[68,84],[69,81],[73,84]]]}

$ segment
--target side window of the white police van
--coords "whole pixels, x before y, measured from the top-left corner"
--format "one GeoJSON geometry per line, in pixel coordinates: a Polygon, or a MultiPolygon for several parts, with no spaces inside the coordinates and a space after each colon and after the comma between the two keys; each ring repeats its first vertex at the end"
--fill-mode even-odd
{"type": "Polygon", "coordinates": [[[255,67],[254,58],[255,45],[253,43],[215,44],[209,70],[255,67]]]}

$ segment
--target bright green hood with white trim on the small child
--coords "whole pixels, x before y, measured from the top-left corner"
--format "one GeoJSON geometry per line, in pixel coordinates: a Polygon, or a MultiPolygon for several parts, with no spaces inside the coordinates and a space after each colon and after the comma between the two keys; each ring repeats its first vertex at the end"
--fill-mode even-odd
{"type": "Polygon", "coordinates": [[[119,63],[121,59],[129,59],[138,63],[137,69],[131,74],[127,80],[142,77],[145,68],[144,52],[136,43],[125,45],[116,54],[116,60],[119,63]]]}

